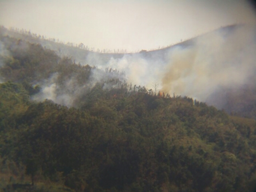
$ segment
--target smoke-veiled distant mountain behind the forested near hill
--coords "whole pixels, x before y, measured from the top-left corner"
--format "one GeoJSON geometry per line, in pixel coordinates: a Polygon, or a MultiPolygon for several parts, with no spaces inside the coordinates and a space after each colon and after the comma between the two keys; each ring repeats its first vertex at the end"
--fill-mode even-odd
{"type": "Polygon", "coordinates": [[[152,85],[157,84],[170,95],[192,97],[217,109],[255,118],[255,26],[225,26],[164,49],[138,53],[93,52],[84,44],[57,43],[23,29],[2,26],[0,32],[40,44],[74,63],[120,71],[134,85],[154,89],[152,85]]]}

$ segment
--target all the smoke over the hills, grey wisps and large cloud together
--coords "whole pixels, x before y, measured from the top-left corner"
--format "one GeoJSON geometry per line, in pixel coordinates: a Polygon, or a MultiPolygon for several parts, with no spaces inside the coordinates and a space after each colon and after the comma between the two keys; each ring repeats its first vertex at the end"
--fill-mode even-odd
{"type": "MultiPolygon", "coordinates": [[[[2,42],[0,48],[1,58],[8,58],[10,53],[2,42]]],[[[20,54],[26,54],[27,49],[24,42],[11,46],[11,50],[20,54]]],[[[234,25],[162,50],[116,55],[91,52],[81,62],[96,66],[85,85],[78,82],[76,73],[68,74],[64,80],[56,73],[49,79],[34,82],[41,86],[41,92],[33,99],[51,99],[74,106],[75,100],[97,82],[120,78],[147,89],[154,89],[153,84],[157,83],[157,91],[186,95],[222,109],[227,103],[227,94],[239,94],[242,87],[256,87],[255,50],[255,26],[234,25]],[[112,72],[105,73],[106,68],[112,72]]],[[[3,59],[0,62],[3,65],[3,59]]],[[[115,83],[105,83],[103,88],[113,86],[115,83]]]]}

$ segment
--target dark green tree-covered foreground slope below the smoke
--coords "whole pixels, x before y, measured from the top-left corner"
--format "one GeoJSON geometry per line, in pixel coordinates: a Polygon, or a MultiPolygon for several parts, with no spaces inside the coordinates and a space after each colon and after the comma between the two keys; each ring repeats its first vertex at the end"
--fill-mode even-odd
{"type": "MultiPolygon", "coordinates": [[[[1,86],[23,94],[21,85],[10,85],[1,86]]],[[[256,170],[255,146],[247,144],[253,122],[223,119],[223,111],[183,98],[124,92],[121,97],[114,90],[116,96],[109,97],[98,85],[88,97],[97,94],[97,87],[102,94],[84,110],[51,100],[28,103],[12,117],[19,123],[11,135],[7,131],[2,157],[26,165],[32,181],[39,173],[56,181],[62,173],[63,184],[75,190],[249,189],[256,170]]]]}

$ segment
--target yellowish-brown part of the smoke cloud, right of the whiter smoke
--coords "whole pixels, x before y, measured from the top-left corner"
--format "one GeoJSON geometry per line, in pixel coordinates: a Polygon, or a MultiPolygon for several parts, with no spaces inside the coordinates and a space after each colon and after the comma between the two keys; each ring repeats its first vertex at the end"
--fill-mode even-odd
{"type": "Polygon", "coordinates": [[[211,94],[217,88],[242,86],[253,75],[255,28],[219,30],[194,41],[194,46],[170,51],[162,78],[164,92],[211,103],[211,94]]]}

